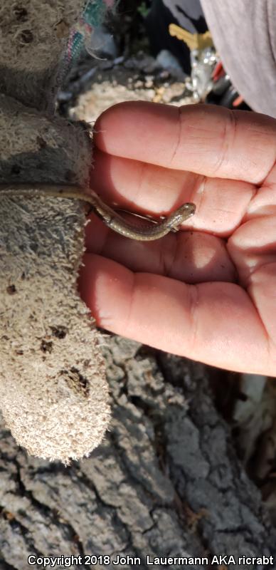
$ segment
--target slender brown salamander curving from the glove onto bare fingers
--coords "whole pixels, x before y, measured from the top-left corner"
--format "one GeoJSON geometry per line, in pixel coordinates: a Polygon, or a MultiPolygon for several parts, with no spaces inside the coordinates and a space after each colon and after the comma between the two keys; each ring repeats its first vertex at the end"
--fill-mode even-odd
{"type": "Polygon", "coordinates": [[[18,185],[11,182],[11,185],[0,185],[1,196],[14,197],[18,195],[23,198],[36,198],[36,197],[57,197],[57,198],[73,198],[88,202],[92,206],[92,210],[102,219],[105,224],[113,229],[118,234],[130,239],[137,239],[139,241],[149,242],[153,239],[169,234],[169,232],[177,232],[186,219],[193,216],[196,212],[195,204],[186,202],[174,212],[169,214],[168,217],[161,219],[161,222],[150,222],[147,224],[133,224],[129,220],[124,219],[118,212],[107,206],[102,202],[100,197],[90,190],[90,194],[86,194],[78,187],[63,186],[63,185],[18,185]],[[15,192],[13,192],[15,190],[15,192]]]}

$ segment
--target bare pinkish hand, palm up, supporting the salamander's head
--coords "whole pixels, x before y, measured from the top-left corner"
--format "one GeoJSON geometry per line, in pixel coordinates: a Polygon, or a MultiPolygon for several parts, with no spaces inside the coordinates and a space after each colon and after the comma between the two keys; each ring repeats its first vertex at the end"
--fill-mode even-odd
{"type": "Polygon", "coordinates": [[[276,375],[276,120],[211,105],[122,103],[95,125],[105,202],[196,214],[134,242],[92,215],[80,294],[97,324],[196,361],[276,375]]]}

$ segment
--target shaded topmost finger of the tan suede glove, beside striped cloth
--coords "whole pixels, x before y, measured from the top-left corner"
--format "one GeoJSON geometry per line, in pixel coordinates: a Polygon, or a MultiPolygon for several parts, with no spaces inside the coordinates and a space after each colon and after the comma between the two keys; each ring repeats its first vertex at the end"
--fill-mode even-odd
{"type": "Polygon", "coordinates": [[[2,0],[1,93],[24,105],[52,108],[60,56],[83,0],[2,0]]]}

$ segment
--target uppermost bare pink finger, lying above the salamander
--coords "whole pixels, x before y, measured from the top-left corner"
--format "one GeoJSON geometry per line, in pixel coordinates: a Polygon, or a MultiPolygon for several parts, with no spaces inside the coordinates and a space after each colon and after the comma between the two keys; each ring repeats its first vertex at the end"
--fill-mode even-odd
{"type": "Polygon", "coordinates": [[[276,156],[276,120],[215,105],[118,103],[95,123],[111,155],[210,177],[260,184],[276,156]]]}

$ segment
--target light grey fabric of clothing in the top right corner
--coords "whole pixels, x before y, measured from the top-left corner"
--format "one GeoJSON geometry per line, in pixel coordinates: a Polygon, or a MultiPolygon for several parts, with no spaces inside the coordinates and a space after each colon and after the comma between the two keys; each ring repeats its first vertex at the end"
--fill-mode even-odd
{"type": "Polygon", "coordinates": [[[276,3],[201,0],[230,79],[253,110],[276,118],[276,3]]]}

